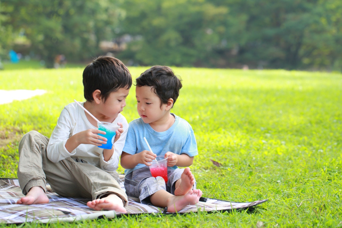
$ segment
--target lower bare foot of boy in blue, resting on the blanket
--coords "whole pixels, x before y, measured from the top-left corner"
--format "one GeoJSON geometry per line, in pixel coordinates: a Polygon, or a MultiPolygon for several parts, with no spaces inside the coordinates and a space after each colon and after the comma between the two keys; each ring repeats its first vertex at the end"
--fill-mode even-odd
{"type": "Polygon", "coordinates": [[[190,190],[184,196],[174,196],[168,200],[168,212],[177,212],[187,205],[195,205],[201,196],[202,191],[199,189],[190,190]]]}

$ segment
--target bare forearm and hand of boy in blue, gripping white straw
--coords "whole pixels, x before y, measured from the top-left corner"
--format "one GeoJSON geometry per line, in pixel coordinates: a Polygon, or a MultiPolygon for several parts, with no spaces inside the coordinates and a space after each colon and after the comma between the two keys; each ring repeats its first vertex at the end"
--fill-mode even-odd
{"type": "Polygon", "coordinates": [[[133,169],[137,164],[150,166],[151,164],[148,162],[151,162],[156,157],[156,154],[148,150],[143,150],[140,153],[135,153],[134,155],[130,155],[129,153],[122,151],[120,164],[124,169],[133,169]]]}

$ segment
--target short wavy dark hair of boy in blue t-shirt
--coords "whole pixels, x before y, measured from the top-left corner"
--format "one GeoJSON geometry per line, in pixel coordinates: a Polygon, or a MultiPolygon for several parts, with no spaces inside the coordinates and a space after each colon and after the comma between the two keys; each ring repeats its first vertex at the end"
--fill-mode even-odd
{"type": "Polygon", "coordinates": [[[174,104],[182,88],[182,79],[168,66],[153,66],[145,70],[135,81],[139,87],[151,86],[151,90],[160,98],[161,105],[167,104],[169,98],[173,99],[174,104]]]}

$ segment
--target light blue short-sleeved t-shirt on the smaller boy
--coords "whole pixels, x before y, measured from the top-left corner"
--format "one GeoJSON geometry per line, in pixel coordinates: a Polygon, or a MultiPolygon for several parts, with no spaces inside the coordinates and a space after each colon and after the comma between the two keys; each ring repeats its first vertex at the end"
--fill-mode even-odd
{"type": "MultiPolygon", "coordinates": [[[[153,153],[157,156],[165,155],[168,151],[178,155],[185,153],[189,157],[198,155],[197,143],[191,125],[173,113],[171,115],[175,117],[175,122],[168,130],[163,132],[156,132],[148,123],[144,123],[141,118],[131,121],[123,151],[134,155],[143,150],[149,150],[144,140],[144,137],[146,137],[153,153]]],[[[144,164],[138,164],[133,169],[126,169],[125,174],[127,175],[133,172],[133,170],[145,166],[144,164]]],[[[172,168],[176,169],[177,166],[172,168]]]]}

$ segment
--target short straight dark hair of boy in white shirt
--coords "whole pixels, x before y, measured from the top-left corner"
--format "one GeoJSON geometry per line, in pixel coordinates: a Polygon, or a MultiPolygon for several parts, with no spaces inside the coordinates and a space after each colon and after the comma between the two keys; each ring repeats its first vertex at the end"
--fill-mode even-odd
{"type": "Polygon", "coordinates": [[[132,76],[127,67],[117,58],[99,56],[83,70],[84,98],[93,101],[95,90],[101,91],[101,98],[106,102],[111,92],[120,88],[130,89],[132,76]]]}

